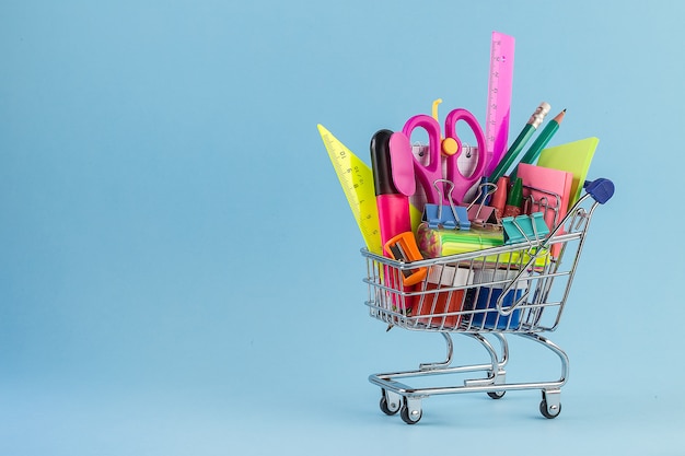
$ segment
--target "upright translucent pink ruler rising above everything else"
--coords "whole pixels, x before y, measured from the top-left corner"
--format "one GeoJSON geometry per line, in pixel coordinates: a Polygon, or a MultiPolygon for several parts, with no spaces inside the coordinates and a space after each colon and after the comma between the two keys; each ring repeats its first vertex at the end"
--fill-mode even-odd
{"type": "Polygon", "coordinates": [[[492,32],[490,47],[490,78],[488,80],[488,109],[486,114],[485,143],[488,164],[485,175],[495,171],[507,153],[511,89],[513,85],[514,38],[492,32]]]}

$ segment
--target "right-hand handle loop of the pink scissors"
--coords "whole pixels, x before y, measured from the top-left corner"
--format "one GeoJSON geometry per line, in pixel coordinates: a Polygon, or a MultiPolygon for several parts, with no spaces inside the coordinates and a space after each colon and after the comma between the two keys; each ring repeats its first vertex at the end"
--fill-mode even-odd
{"type": "Polygon", "coordinates": [[[448,179],[454,183],[454,199],[460,203],[463,203],[466,192],[480,180],[480,177],[483,177],[485,173],[487,165],[485,135],[483,133],[483,129],[480,128],[480,124],[478,124],[476,117],[469,110],[464,108],[456,108],[448,114],[445,117],[444,130],[445,138],[453,138],[457,144],[457,152],[454,155],[454,161],[451,163],[451,166],[448,166],[448,179]],[[476,161],[476,167],[468,176],[464,176],[464,174],[462,174],[456,161],[456,159],[464,152],[462,148],[462,140],[456,135],[456,122],[460,120],[464,120],[466,125],[468,125],[471,130],[474,132],[478,144],[478,159],[476,161]]]}

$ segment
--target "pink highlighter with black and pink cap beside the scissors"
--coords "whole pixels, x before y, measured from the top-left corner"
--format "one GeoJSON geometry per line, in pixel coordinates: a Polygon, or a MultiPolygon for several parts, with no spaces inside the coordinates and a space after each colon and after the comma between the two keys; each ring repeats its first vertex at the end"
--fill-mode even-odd
{"type": "Polygon", "coordinates": [[[381,243],[385,245],[411,231],[409,196],[416,191],[411,144],[405,135],[380,130],[371,138],[370,148],[381,243]]]}

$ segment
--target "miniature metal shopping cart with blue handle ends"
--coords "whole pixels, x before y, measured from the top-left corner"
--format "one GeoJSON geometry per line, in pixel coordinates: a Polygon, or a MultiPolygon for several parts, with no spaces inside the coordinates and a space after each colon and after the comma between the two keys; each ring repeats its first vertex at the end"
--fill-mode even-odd
{"type": "Polygon", "coordinates": [[[499,399],[508,390],[541,389],[541,413],[557,417],[569,360],[561,348],[542,334],[559,325],[594,210],[608,201],[613,192],[614,185],[608,179],[587,182],[583,196],[544,237],[529,235],[513,244],[413,262],[362,249],[368,266],[365,304],[371,316],[392,327],[439,332],[446,342],[443,362],[369,377],[381,387],[381,410],[386,414],[399,412],[406,423],[414,424],[422,416],[421,400],[429,396],[483,391],[499,399]],[[419,283],[407,285],[403,280],[421,270],[425,278],[419,283]],[[453,332],[479,342],[489,360],[453,365],[453,332]],[[559,378],[507,383],[509,335],[554,352],[561,364],[559,378]],[[427,377],[444,374],[468,378],[455,386],[411,387],[405,383],[413,377],[423,377],[426,382],[427,377]]]}

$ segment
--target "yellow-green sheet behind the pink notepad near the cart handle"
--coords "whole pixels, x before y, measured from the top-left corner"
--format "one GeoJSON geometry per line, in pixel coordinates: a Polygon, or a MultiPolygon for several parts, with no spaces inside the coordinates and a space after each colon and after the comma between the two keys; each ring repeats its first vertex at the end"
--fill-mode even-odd
{"type": "Polygon", "coordinates": [[[576,204],[588,178],[588,169],[600,140],[585,138],[567,144],[545,149],[537,160],[538,166],[573,173],[569,207],[576,204]]]}

